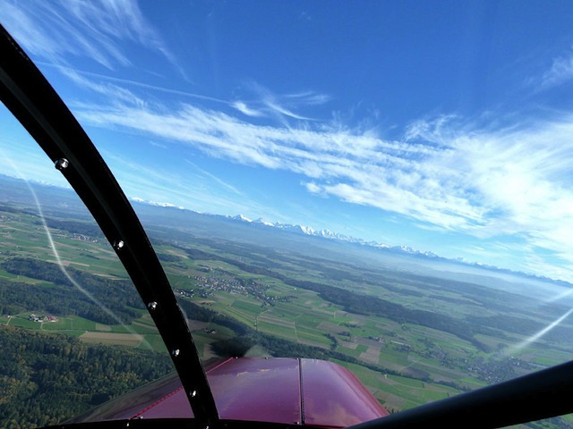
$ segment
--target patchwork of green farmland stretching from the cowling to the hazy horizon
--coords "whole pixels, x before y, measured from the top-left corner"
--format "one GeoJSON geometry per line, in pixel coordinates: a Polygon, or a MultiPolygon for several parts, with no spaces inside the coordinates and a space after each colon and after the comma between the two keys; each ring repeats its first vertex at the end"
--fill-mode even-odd
{"type": "MultiPolygon", "coordinates": [[[[3,262],[14,257],[56,261],[47,245],[46,232],[37,222],[31,214],[11,214],[4,222],[0,248],[10,251],[0,254],[0,281],[10,282],[14,288],[21,284],[56,290],[61,288],[57,282],[4,269],[3,262]],[[35,226],[30,229],[30,225],[35,226]]],[[[511,349],[510,344],[526,338],[526,328],[492,324],[486,329],[467,323],[474,320],[471,317],[482,317],[480,320],[487,322],[489,319],[483,317],[498,314],[512,317],[511,321],[523,321],[524,326],[526,322],[546,324],[550,320],[542,315],[532,318],[517,307],[503,307],[505,313],[478,308],[488,302],[495,303],[492,308],[500,307],[503,298],[513,298],[499,290],[488,297],[483,288],[478,290],[475,285],[444,281],[440,291],[442,283],[438,279],[365,263],[361,266],[346,264],[346,260],[303,257],[293,249],[278,254],[248,243],[194,240],[192,234],[181,231],[176,240],[169,230],[157,233],[161,237],[157,250],[172,287],[185,292],[178,293],[178,299],[243,324],[246,328],[242,329],[254,332],[251,336],[269,335],[310,347],[308,350],[323,350],[325,357],[352,370],[392,411],[444,399],[573,357],[573,344],[555,338],[542,338],[526,348],[504,353],[504,349],[511,349]],[[338,298],[333,290],[345,295],[338,298]],[[390,302],[402,306],[404,316],[395,315],[394,307],[387,311],[368,307],[376,299],[384,299],[381,305],[390,302]],[[415,313],[412,308],[422,311],[415,313]],[[432,315],[440,315],[450,324],[438,329],[438,323],[424,319],[430,312],[423,310],[430,309],[432,315]],[[470,326],[470,333],[454,329],[457,323],[470,326]]],[[[113,282],[127,278],[106,240],[81,239],[65,229],[52,231],[52,237],[65,267],[113,282]]],[[[129,323],[116,324],[26,307],[16,314],[0,315],[0,324],[62,333],[81,341],[165,350],[143,309],[137,309],[129,323]],[[50,315],[57,321],[35,322],[30,315],[50,315]]],[[[216,322],[192,322],[191,329],[204,359],[215,356],[213,346],[219,341],[236,335],[233,328],[216,322]]]]}

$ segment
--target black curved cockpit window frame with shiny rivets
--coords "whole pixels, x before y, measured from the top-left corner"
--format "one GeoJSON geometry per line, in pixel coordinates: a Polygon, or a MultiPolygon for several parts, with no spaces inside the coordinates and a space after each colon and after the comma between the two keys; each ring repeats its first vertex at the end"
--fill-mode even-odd
{"type": "Polygon", "coordinates": [[[0,97],[90,210],[158,327],[196,423],[218,411],[205,370],[150,240],[98,150],[30,57],[0,26],[0,97]]]}

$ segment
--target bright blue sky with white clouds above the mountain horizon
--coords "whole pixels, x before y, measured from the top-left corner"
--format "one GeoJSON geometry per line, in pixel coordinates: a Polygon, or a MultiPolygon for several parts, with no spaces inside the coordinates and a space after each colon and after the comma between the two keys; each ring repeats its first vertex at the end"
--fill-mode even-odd
{"type": "MultiPolygon", "coordinates": [[[[569,1],[2,0],[0,21],[131,198],[573,281],[569,1]]],[[[11,165],[56,181],[5,121],[11,165]]]]}

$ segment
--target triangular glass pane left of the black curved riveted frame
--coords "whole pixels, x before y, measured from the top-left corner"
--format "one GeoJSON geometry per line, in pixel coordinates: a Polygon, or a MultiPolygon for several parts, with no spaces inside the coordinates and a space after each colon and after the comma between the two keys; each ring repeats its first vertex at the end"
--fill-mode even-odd
{"type": "Polygon", "coordinates": [[[173,368],[98,224],[1,109],[0,422],[56,425],[173,368]]]}

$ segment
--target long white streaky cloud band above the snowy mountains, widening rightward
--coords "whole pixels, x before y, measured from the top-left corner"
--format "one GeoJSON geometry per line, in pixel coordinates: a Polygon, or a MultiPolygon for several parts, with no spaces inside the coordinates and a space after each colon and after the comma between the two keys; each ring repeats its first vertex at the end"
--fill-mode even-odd
{"type": "Polygon", "coordinates": [[[188,145],[235,163],[303,176],[307,191],[475,237],[516,236],[573,262],[573,117],[501,130],[454,117],[413,123],[404,139],[306,122],[275,127],[220,111],[81,107],[81,119],[188,145]]]}

